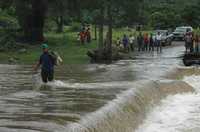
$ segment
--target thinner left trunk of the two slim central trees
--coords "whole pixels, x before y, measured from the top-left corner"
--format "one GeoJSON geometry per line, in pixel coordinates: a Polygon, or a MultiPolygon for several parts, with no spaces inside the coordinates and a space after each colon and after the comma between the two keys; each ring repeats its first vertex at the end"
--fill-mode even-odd
{"type": "Polygon", "coordinates": [[[99,49],[103,49],[103,27],[104,27],[104,8],[101,8],[101,16],[100,16],[100,22],[99,22],[99,49]]]}

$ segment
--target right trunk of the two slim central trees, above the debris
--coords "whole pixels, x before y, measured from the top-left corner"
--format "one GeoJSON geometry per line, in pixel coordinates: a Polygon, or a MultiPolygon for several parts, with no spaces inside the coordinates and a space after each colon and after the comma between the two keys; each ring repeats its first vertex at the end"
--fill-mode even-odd
{"type": "Polygon", "coordinates": [[[107,44],[107,54],[109,62],[112,62],[112,13],[111,4],[108,4],[108,44],[107,44]]]}

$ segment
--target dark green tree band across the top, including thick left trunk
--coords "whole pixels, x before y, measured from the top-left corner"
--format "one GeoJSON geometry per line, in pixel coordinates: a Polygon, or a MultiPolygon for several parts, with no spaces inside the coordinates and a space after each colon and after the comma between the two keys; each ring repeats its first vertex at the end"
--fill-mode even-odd
{"type": "Polygon", "coordinates": [[[0,8],[12,8],[24,37],[43,41],[46,21],[54,21],[57,32],[73,22],[114,27],[145,25],[174,28],[180,24],[199,26],[198,0],[1,0],[0,8]]]}

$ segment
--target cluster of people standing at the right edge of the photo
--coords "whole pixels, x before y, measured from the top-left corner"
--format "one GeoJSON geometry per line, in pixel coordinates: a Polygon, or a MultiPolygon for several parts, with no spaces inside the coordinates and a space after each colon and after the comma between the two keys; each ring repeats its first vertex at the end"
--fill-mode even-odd
{"type": "Polygon", "coordinates": [[[193,32],[188,32],[185,35],[186,53],[200,53],[200,36],[193,32]]]}

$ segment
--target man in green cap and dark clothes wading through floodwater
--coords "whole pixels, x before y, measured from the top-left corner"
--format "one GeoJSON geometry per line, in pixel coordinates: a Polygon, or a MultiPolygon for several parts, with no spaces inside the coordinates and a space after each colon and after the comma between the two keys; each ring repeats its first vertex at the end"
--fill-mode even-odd
{"type": "Polygon", "coordinates": [[[40,56],[39,61],[34,66],[34,70],[37,71],[38,68],[41,66],[41,77],[44,83],[48,81],[53,81],[54,79],[54,65],[55,60],[49,54],[49,47],[47,44],[42,44],[43,54],[40,56]]]}

